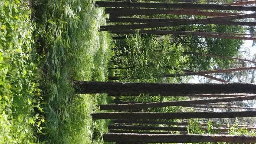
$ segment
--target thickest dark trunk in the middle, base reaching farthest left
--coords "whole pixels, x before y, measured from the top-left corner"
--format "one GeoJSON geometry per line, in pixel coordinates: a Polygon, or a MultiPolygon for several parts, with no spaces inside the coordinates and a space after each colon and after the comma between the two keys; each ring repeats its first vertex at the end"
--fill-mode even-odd
{"type": "Polygon", "coordinates": [[[136,82],[73,82],[77,94],[230,94],[256,93],[256,85],[249,83],[136,83],[136,82]]]}

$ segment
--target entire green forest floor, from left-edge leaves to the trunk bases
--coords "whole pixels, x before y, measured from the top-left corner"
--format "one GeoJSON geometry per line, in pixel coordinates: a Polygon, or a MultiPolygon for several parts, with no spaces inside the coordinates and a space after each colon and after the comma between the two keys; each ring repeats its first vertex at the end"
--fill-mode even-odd
{"type": "MultiPolygon", "coordinates": [[[[24,92],[24,95],[30,94],[29,98],[18,95],[17,88],[12,89],[18,86],[7,82],[8,72],[0,77],[0,143],[36,141],[53,144],[101,144],[108,121],[93,121],[91,114],[98,111],[97,105],[105,104],[111,99],[105,94],[75,95],[72,81],[106,80],[112,39],[108,33],[98,32],[99,26],[105,24],[103,9],[95,8],[94,1],[85,3],[84,0],[36,0],[29,5],[26,2],[20,4],[18,0],[13,3],[3,0],[0,4],[6,8],[1,13],[14,11],[18,7],[28,25],[20,29],[22,32],[31,30],[25,33],[25,37],[31,38],[25,39],[30,51],[21,43],[22,52],[27,53],[27,57],[17,57],[19,53],[7,53],[10,59],[20,59],[25,66],[15,67],[13,60],[13,63],[0,65],[0,70],[5,72],[11,67],[17,71],[24,70],[23,75],[33,75],[33,78],[27,80],[29,83],[24,84],[26,87],[33,85],[33,90],[24,92]],[[32,20],[29,18],[30,13],[32,20]],[[27,70],[31,66],[26,60],[33,61],[35,66],[32,69],[35,72],[27,70]],[[24,108],[29,110],[24,111],[24,108]],[[16,112],[16,109],[20,110],[16,112]]],[[[4,17],[3,14],[2,16],[4,17]]],[[[19,26],[23,20],[13,21],[15,26],[19,26]]],[[[0,43],[3,44],[7,43],[4,38],[10,37],[8,26],[3,23],[9,22],[7,19],[0,22],[1,30],[7,29],[5,37],[0,35],[0,43]]],[[[19,35],[20,31],[14,33],[19,35]]],[[[24,41],[18,39],[22,40],[24,41]]],[[[15,43],[11,41],[9,44],[15,43]]],[[[2,48],[5,50],[3,45],[0,46],[0,52],[2,48]]],[[[16,51],[20,52],[19,49],[16,51]]],[[[0,60],[3,61],[0,64],[5,64],[2,57],[4,59],[4,55],[0,53],[0,60]]],[[[11,76],[24,80],[20,75],[11,76]]]]}

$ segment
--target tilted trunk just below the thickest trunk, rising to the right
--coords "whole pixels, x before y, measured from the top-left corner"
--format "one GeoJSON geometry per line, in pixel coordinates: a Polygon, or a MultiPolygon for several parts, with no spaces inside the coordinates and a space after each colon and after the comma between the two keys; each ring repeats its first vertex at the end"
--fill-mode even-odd
{"type": "Polygon", "coordinates": [[[143,109],[143,108],[157,108],[157,107],[168,107],[168,106],[184,106],[184,107],[201,108],[201,106],[198,106],[199,104],[244,101],[244,100],[253,100],[253,99],[256,99],[256,95],[233,97],[233,98],[188,100],[188,101],[148,102],[148,103],[135,103],[135,104],[109,104],[109,105],[100,105],[99,107],[100,107],[100,110],[143,109]]]}

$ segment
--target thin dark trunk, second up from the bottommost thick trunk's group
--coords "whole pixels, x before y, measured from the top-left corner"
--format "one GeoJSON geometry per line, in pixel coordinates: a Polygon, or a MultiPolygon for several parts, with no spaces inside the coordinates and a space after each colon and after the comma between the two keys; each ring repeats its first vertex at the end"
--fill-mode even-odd
{"type": "Polygon", "coordinates": [[[157,127],[140,125],[109,125],[108,129],[120,130],[154,130],[154,131],[187,131],[186,127],[157,127]]]}

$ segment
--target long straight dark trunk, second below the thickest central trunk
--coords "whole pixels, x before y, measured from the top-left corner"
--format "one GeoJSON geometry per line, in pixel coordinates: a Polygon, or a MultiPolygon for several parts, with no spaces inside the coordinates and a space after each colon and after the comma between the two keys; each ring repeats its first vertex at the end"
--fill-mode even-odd
{"type": "Polygon", "coordinates": [[[109,112],[93,113],[93,119],[173,119],[173,118],[241,118],[256,117],[256,111],[229,112],[109,112]]]}

